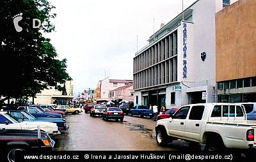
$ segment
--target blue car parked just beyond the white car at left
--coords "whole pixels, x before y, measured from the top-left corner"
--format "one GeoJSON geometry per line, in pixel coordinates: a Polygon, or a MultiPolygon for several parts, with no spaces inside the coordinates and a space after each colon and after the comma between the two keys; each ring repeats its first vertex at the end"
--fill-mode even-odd
{"type": "Polygon", "coordinates": [[[13,115],[19,121],[28,121],[28,122],[54,122],[58,126],[58,130],[61,133],[65,133],[65,131],[68,130],[69,126],[66,123],[66,119],[64,118],[58,118],[58,117],[38,117],[35,118],[33,115],[29,114],[28,112],[25,111],[20,111],[20,110],[5,110],[9,114],[13,115]]]}

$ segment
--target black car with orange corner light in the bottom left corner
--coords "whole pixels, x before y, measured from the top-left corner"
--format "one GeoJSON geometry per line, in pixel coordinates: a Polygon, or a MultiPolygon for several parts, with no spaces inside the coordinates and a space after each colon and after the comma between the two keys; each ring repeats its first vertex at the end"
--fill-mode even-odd
{"type": "Polygon", "coordinates": [[[1,161],[15,161],[17,151],[51,151],[54,144],[44,131],[0,128],[1,161]]]}

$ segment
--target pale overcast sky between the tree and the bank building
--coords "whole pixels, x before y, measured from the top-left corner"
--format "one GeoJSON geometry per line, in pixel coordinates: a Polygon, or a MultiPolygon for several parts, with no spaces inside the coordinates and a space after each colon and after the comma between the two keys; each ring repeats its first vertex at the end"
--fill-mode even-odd
{"type": "MultiPolygon", "coordinates": [[[[74,92],[105,77],[132,80],[132,58],[148,38],[182,12],[182,0],[50,0],[56,32],[47,34],[67,59],[74,92]],[[137,41],[138,40],[138,41],[137,41]]],[[[195,0],[184,0],[184,9],[195,0]]]]}

